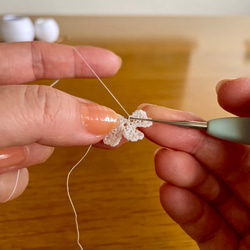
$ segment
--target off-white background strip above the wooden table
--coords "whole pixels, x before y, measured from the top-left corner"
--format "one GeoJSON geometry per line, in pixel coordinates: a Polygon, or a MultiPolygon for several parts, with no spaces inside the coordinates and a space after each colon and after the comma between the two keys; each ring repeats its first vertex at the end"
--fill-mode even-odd
{"type": "Polygon", "coordinates": [[[0,0],[0,15],[248,15],[249,0],[0,0]]]}

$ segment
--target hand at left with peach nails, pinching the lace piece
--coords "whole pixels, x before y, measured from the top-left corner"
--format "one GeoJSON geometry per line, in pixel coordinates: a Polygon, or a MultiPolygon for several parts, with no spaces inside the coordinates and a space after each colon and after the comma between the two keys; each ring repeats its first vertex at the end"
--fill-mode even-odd
{"type": "MultiPolygon", "coordinates": [[[[101,77],[114,75],[121,59],[89,46],[76,49],[101,77]]],[[[93,77],[70,46],[45,43],[0,44],[0,202],[12,199],[28,184],[27,167],[42,163],[54,146],[89,145],[101,141],[117,124],[106,107],[48,86],[27,85],[41,79],[93,77]]]]}

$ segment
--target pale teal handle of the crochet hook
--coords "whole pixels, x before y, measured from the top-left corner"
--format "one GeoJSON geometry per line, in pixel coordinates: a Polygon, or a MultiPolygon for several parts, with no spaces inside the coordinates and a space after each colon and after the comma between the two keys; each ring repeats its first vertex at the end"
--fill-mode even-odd
{"type": "Polygon", "coordinates": [[[226,117],[208,121],[208,134],[233,142],[250,145],[250,117],[226,117]]]}

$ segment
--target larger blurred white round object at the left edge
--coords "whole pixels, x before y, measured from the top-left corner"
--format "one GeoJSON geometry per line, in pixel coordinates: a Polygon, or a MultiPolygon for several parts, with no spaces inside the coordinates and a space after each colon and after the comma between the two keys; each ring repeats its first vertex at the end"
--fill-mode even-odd
{"type": "Polygon", "coordinates": [[[4,42],[33,41],[34,25],[28,17],[5,15],[2,17],[1,35],[4,42]]]}

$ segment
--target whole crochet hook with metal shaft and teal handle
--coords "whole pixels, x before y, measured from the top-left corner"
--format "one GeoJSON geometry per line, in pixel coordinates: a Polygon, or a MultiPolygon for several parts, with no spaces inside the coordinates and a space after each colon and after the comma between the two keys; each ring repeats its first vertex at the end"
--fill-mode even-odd
{"type": "Polygon", "coordinates": [[[201,121],[165,121],[129,117],[129,119],[165,123],[185,128],[205,130],[207,134],[227,141],[250,145],[250,117],[225,117],[201,121]]]}

